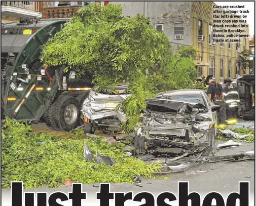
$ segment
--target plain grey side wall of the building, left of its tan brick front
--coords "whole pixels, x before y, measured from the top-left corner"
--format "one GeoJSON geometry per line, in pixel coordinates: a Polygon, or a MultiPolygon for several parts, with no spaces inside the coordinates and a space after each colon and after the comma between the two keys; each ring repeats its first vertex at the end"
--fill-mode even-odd
{"type": "Polygon", "coordinates": [[[191,45],[191,2],[109,2],[121,5],[124,16],[141,14],[150,18],[152,26],[163,24],[172,46],[191,45]],[[184,22],[182,39],[174,39],[174,22],[184,22]]]}

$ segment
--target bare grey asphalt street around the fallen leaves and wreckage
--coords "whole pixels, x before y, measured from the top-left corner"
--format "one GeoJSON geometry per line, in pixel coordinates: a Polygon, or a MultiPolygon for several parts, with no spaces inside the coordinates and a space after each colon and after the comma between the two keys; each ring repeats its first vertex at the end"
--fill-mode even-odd
{"type": "MultiPolygon", "coordinates": [[[[246,125],[254,126],[254,122],[243,122],[240,121],[240,127],[246,125]]],[[[237,125],[237,126],[239,126],[237,125]]],[[[36,126],[36,129],[38,126],[36,126]]],[[[35,129],[35,130],[36,130],[35,129]]],[[[224,141],[216,141],[216,145],[220,143],[225,143],[224,141]]],[[[215,153],[215,155],[231,155],[237,153],[244,153],[247,151],[254,151],[254,143],[245,143],[241,142],[242,145],[236,148],[225,148],[220,149],[215,153]]],[[[239,181],[249,181],[250,183],[250,192],[251,198],[254,197],[254,161],[222,161],[217,163],[197,163],[185,173],[172,173],[167,175],[168,179],[141,179],[141,184],[111,184],[111,191],[113,192],[129,192],[133,191],[134,193],[148,191],[157,195],[164,191],[173,192],[178,194],[178,182],[188,181],[190,192],[196,191],[201,195],[204,195],[211,191],[217,191],[228,195],[230,192],[238,192],[238,183],[239,181]]],[[[99,192],[97,187],[99,184],[84,184],[83,191],[88,192],[88,196],[94,198],[95,192],[99,192]]],[[[60,188],[50,189],[48,187],[24,190],[29,192],[55,192],[61,191],[64,193],[71,192],[71,187],[61,186],[60,188]]],[[[11,198],[11,191],[4,189],[2,190],[2,197],[4,199],[11,198]]],[[[95,198],[94,198],[95,199],[95,198]]],[[[8,205],[8,204],[6,204],[8,205]]],[[[69,205],[69,204],[68,204],[69,205]]]]}

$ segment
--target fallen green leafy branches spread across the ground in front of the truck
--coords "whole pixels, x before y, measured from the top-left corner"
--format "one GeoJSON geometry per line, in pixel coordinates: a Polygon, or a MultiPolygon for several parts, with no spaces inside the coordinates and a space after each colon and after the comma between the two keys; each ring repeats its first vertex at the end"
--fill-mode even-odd
{"type": "MultiPolygon", "coordinates": [[[[79,133],[77,133],[78,135],[79,133]]],[[[71,179],[79,183],[132,182],[136,176],[151,177],[160,170],[159,163],[147,165],[126,152],[102,141],[100,138],[63,139],[47,134],[35,134],[30,126],[7,119],[2,127],[2,188],[10,188],[11,181],[23,181],[25,188],[37,188],[45,184],[57,187],[71,179]],[[84,141],[94,154],[114,157],[117,163],[108,167],[86,161],[83,157],[84,141]],[[30,159],[24,159],[33,157],[30,159]]]]}

